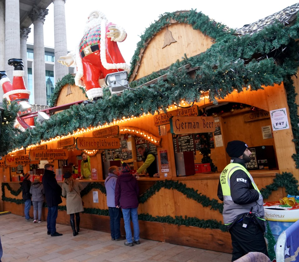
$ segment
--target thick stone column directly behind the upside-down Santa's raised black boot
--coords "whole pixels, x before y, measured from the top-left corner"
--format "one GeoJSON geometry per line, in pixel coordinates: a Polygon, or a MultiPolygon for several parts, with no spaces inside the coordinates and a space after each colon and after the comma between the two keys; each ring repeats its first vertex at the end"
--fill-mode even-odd
{"type": "Polygon", "coordinates": [[[7,72],[7,77],[12,81],[13,66],[7,64],[11,58],[21,58],[19,0],[5,1],[5,68],[2,70],[7,72]]]}

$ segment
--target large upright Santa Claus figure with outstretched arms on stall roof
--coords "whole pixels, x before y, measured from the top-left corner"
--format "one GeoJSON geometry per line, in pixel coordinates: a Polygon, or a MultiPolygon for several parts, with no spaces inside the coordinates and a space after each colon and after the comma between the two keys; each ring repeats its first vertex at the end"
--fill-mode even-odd
{"type": "Polygon", "coordinates": [[[83,38],[75,51],[60,57],[58,62],[77,65],[75,84],[84,87],[88,99],[97,100],[103,96],[105,77],[117,71],[130,72],[116,42],[126,39],[126,31],[107,21],[100,11],[88,16],[83,38]]]}

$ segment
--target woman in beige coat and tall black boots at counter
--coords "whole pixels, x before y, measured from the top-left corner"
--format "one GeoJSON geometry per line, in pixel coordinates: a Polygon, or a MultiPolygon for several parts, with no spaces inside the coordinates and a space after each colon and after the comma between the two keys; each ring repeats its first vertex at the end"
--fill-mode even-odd
{"type": "Polygon", "coordinates": [[[66,196],[66,213],[70,215],[70,223],[73,229],[73,235],[77,236],[80,230],[80,213],[84,211],[80,191],[83,189],[78,180],[74,180],[73,174],[69,171],[63,175],[62,195],[66,196]],[[76,228],[75,228],[76,215],[76,228]],[[76,231],[77,229],[77,231],[76,231]]]}

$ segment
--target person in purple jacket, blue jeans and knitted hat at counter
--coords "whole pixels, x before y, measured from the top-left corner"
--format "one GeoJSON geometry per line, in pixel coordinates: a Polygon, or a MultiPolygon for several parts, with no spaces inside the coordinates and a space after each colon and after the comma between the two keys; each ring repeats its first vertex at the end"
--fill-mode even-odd
{"type": "Polygon", "coordinates": [[[134,229],[134,242],[139,241],[139,223],[138,223],[138,196],[139,187],[136,178],[130,174],[130,166],[126,163],[121,165],[122,174],[116,180],[115,186],[115,206],[122,209],[125,222],[126,241],[125,246],[133,246],[130,214],[134,229]]]}

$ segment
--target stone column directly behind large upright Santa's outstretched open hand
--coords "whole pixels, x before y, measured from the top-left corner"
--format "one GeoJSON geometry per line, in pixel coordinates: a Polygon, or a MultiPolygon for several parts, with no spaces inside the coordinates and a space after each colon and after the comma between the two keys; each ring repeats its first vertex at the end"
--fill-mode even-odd
{"type": "Polygon", "coordinates": [[[69,68],[58,63],[60,56],[67,55],[66,26],[65,26],[65,0],[52,0],[54,4],[54,41],[55,41],[55,82],[69,73],[69,68]]]}

